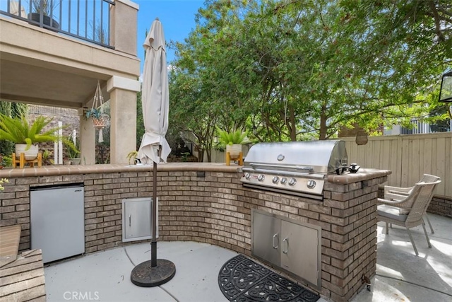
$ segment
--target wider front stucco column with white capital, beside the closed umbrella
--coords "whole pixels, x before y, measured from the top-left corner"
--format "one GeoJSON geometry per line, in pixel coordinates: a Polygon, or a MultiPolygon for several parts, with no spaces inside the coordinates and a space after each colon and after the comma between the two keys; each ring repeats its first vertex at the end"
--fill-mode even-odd
{"type": "Polygon", "coordinates": [[[110,163],[128,163],[127,154],[136,150],[136,93],[140,82],[112,76],[110,93],[110,163]]]}

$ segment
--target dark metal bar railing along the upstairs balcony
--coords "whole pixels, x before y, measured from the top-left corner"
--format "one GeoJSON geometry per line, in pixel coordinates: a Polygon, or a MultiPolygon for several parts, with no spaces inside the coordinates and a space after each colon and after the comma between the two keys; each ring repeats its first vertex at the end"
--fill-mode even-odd
{"type": "Polygon", "coordinates": [[[64,35],[109,44],[112,0],[1,0],[0,13],[64,35]]]}

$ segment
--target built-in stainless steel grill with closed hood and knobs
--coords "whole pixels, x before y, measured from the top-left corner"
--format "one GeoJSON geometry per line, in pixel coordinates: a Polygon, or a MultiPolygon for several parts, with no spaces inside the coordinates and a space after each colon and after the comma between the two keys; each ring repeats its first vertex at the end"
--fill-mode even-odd
{"type": "Polygon", "coordinates": [[[323,199],[325,176],[346,167],[344,141],[259,143],[246,155],[241,180],[246,187],[323,199]]]}

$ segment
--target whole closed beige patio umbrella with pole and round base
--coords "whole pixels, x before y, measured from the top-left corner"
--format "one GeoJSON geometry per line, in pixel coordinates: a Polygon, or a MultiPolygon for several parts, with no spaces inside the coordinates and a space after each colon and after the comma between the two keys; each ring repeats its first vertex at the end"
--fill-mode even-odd
{"type": "Polygon", "coordinates": [[[162,23],[158,18],[153,22],[143,47],[146,53],[141,100],[145,134],[137,157],[141,163],[153,163],[151,260],[142,262],[133,268],[131,281],[138,286],[151,287],[166,283],[176,273],[174,263],[165,259],[157,260],[157,163],[166,162],[169,152],[171,152],[165,139],[169,109],[165,35],[162,23]]]}

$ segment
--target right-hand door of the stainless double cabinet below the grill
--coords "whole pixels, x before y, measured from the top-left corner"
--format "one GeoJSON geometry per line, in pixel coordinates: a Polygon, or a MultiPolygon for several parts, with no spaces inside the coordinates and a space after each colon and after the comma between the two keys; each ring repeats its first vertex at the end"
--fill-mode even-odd
{"type": "Polygon", "coordinates": [[[318,284],[319,231],[281,221],[281,267],[318,284]]]}

